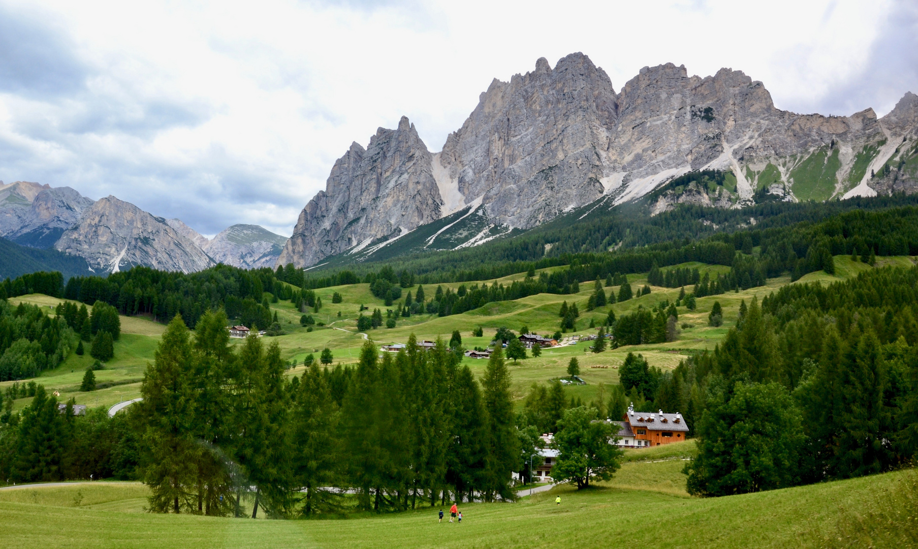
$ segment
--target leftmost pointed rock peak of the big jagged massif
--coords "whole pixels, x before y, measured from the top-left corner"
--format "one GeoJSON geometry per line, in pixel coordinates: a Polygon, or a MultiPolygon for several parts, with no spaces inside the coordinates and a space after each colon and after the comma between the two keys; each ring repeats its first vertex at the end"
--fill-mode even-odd
{"type": "Polygon", "coordinates": [[[431,152],[414,125],[376,130],[364,150],[357,143],[335,162],[326,189],[300,213],[278,264],[305,267],[377,239],[394,239],[440,218],[443,201],[431,152]]]}

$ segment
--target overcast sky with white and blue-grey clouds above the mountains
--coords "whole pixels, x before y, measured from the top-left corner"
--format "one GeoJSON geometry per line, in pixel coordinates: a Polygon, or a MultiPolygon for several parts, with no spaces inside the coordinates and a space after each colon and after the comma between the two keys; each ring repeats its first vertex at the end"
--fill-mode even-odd
{"type": "Polygon", "coordinates": [[[353,140],[405,115],[439,151],[492,78],[573,51],[616,90],[731,67],[778,108],[882,115],[918,93],[918,3],[0,0],[0,180],[289,235],[353,140]]]}

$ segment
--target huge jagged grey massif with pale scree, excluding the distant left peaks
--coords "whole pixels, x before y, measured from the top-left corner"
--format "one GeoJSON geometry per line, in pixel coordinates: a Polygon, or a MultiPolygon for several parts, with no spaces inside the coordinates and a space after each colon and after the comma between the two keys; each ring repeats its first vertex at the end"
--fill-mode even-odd
{"type": "Polygon", "coordinates": [[[532,73],[495,79],[440,152],[408,118],[378,129],[366,150],[353,143],[300,213],[278,263],[359,261],[431,224],[438,229],[420,249],[476,245],[590,204],[641,199],[703,170],[723,176],[652,196],[654,211],[912,193],[916,142],[911,92],[883,118],[870,108],[800,115],[731,69],[701,78],[672,63],[644,67],[616,93],[582,53],[554,69],[540,59],[532,73]]]}

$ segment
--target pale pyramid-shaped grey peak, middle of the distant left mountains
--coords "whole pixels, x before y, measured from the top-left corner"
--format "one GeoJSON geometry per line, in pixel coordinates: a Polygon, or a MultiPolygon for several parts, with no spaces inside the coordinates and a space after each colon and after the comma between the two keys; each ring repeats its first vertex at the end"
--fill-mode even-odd
{"type": "Polygon", "coordinates": [[[84,257],[97,272],[118,272],[133,265],[191,273],[214,264],[195,242],[163,218],[106,196],[87,208],[76,226],[54,245],[84,257]]]}

